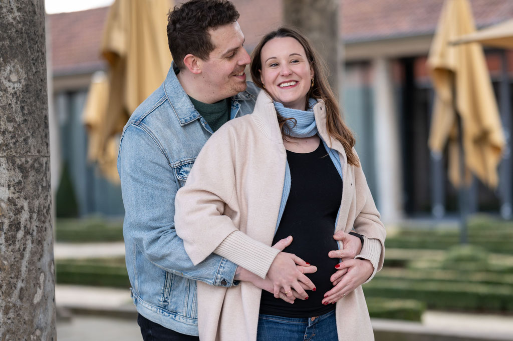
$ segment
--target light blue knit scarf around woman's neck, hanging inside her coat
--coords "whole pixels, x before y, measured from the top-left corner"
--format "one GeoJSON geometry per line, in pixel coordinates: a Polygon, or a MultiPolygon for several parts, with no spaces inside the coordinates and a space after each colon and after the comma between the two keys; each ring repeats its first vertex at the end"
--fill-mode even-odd
{"type": "MultiPolygon", "coordinates": [[[[276,112],[284,117],[284,118],[295,118],[297,124],[294,126],[292,121],[287,121],[287,127],[289,128],[289,134],[293,137],[311,137],[318,133],[317,125],[315,125],[315,116],[313,114],[313,106],[317,104],[317,99],[310,98],[308,99],[308,110],[298,110],[298,109],[289,109],[285,108],[283,104],[274,102],[274,108],[276,112]]],[[[320,137],[320,136],[319,136],[320,137]]],[[[328,151],[328,155],[331,158],[331,162],[335,165],[337,172],[339,172],[340,177],[342,178],[342,167],[340,166],[340,158],[339,153],[330,149],[326,142],[322,139],[321,141],[324,144],[324,148],[328,151]]],[[[285,205],[287,204],[288,195],[290,193],[290,168],[287,161],[287,166],[285,168],[285,182],[283,184],[283,192],[282,192],[282,200],[280,202],[280,211],[278,213],[278,222],[276,223],[276,228],[274,229],[274,234],[278,231],[278,226],[280,225],[280,220],[282,219],[283,211],[285,210],[285,205]]],[[[338,220],[338,215],[337,215],[338,220]]]]}

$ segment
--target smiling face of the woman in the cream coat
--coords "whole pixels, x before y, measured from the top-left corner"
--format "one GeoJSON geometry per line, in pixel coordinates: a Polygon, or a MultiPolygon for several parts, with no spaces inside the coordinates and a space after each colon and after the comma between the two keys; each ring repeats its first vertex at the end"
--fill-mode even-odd
{"type": "Polygon", "coordinates": [[[305,49],[294,38],[273,38],[262,48],[261,81],[276,102],[286,108],[306,109],[313,69],[305,49]]]}

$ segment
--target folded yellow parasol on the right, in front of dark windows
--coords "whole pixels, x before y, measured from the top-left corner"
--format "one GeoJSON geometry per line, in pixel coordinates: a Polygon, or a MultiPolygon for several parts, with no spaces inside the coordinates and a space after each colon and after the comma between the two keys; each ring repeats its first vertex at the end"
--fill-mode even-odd
{"type": "Polygon", "coordinates": [[[475,30],[468,1],[446,0],[427,61],[436,90],[428,145],[441,152],[448,144],[449,179],[459,187],[459,114],[465,182],[469,183],[471,172],[484,184],[496,187],[505,140],[483,49],[477,43],[449,44],[475,30]]]}

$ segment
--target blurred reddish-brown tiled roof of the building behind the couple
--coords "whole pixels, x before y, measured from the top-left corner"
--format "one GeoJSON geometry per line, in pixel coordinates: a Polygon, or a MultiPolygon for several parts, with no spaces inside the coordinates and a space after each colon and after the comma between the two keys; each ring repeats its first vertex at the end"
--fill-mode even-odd
{"type": "MultiPolygon", "coordinates": [[[[340,0],[346,43],[432,34],[443,0],[340,0]]],[[[179,1],[181,2],[181,1],[179,1]]],[[[232,0],[251,50],[262,34],[281,23],[281,0],[232,0]]],[[[470,0],[478,27],[513,17],[513,0],[470,0]]],[[[108,7],[49,15],[54,74],[102,69],[100,42],[108,7]]]]}

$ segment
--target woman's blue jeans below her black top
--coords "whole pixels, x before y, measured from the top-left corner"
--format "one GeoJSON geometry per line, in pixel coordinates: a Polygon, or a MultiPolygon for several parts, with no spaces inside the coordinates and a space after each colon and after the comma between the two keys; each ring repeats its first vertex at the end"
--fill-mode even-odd
{"type": "Polygon", "coordinates": [[[257,341],[338,341],[335,311],[308,318],[260,314],[257,341]]]}

